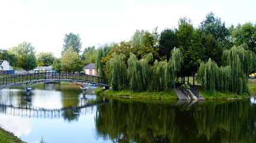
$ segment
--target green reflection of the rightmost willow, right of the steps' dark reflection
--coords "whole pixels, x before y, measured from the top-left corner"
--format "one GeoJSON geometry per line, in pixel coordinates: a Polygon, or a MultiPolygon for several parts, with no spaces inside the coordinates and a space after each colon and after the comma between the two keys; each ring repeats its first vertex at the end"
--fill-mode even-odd
{"type": "Polygon", "coordinates": [[[256,141],[256,106],[249,100],[230,101],[223,104],[209,102],[194,113],[199,135],[221,139],[222,142],[256,141]]]}

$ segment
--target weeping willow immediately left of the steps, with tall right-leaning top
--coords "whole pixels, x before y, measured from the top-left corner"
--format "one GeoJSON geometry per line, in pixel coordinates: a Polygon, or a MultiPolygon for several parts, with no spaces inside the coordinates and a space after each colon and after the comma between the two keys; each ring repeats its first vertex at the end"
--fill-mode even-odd
{"type": "Polygon", "coordinates": [[[181,64],[183,63],[183,55],[179,49],[172,50],[172,57],[169,62],[155,61],[151,67],[151,82],[149,86],[150,91],[164,91],[172,89],[175,86],[177,73],[181,71],[181,64]]]}

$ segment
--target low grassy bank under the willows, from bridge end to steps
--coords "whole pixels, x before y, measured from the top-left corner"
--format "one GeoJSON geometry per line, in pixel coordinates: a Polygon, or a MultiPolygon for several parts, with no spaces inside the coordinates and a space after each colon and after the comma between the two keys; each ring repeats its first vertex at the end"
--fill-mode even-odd
{"type": "Polygon", "coordinates": [[[148,100],[177,100],[178,96],[173,91],[160,91],[160,92],[132,92],[129,89],[123,91],[112,91],[111,89],[102,91],[102,88],[95,90],[96,95],[120,97],[120,98],[138,98],[148,100]]]}

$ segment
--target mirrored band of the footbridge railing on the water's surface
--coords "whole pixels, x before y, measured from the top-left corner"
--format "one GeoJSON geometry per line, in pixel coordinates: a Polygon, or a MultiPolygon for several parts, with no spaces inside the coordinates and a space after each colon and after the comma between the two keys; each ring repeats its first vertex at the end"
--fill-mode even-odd
{"type": "Polygon", "coordinates": [[[29,108],[29,107],[14,107],[13,105],[3,105],[0,104],[0,113],[8,114],[11,116],[20,117],[33,117],[33,118],[60,118],[67,116],[67,114],[86,114],[88,107],[93,107],[95,105],[108,104],[109,101],[87,103],[80,107],[72,108],[60,108],[60,109],[46,109],[46,108],[29,108]]]}

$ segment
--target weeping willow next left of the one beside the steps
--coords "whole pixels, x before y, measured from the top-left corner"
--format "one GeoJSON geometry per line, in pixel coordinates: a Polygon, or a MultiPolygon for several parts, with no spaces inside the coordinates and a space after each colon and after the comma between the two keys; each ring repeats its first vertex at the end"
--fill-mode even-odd
{"type": "Polygon", "coordinates": [[[129,88],[132,91],[141,92],[146,91],[148,88],[148,83],[150,81],[150,68],[148,63],[153,59],[153,55],[147,54],[138,60],[135,54],[130,53],[130,58],[128,59],[128,79],[129,88]]]}

